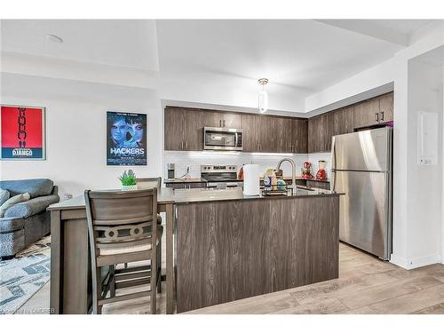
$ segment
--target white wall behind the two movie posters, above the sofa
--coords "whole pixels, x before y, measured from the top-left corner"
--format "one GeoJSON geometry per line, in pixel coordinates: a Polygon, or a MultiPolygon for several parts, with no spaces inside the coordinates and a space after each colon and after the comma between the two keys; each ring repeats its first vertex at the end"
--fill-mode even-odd
{"type": "Polygon", "coordinates": [[[118,175],[162,174],[162,110],[156,92],[115,85],[2,74],[2,103],[46,107],[46,160],[2,161],[2,179],[51,178],[65,193],[118,188],[118,175]],[[147,166],[107,166],[106,112],[147,114],[147,166]]]}

